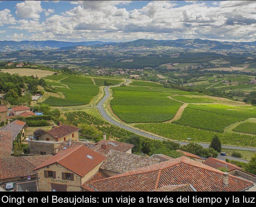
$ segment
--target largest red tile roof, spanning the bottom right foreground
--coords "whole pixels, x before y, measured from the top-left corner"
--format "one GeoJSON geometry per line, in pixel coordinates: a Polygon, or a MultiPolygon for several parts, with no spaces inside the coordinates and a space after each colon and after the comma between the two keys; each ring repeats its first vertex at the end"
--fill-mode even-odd
{"type": "Polygon", "coordinates": [[[169,185],[191,184],[196,191],[242,191],[253,186],[232,175],[228,181],[228,185],[223,184],[222,171],[183,156],[94,181],[89,187],[95,191],[152,191],[169,185]]]}

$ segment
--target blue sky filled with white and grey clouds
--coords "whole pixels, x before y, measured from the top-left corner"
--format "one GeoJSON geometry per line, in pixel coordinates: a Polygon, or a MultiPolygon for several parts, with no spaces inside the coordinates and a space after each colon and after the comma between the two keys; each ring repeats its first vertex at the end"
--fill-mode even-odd
{"type": "Polygon", "coordinates": [[[256,41],[256,1],[1,1],[0,40],[256,41]]]}

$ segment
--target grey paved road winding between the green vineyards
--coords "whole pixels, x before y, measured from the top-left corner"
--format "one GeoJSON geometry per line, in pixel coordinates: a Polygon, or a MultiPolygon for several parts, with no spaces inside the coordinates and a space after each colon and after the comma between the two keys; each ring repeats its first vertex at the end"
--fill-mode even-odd
{"type": "MultiPolygon", "coordinates": [[[[127,84],[127,83],[130,83],[130,80],[128,79],[125,79],[126,82],[124,84],[127,84]]],[[[110,87],[116,87],[116,86],[120,86],[121,84],[119,85],[115,85],[115,86],[110,86],[110,87]]],[[[120,128],[123,128],[123,129],[126,129],[127,131],[130,131],[130,132],[133,132],[135,134],[138,134],[138,135],[141,135],[141,136],[144,136],[144,137],[148,137],[150,139],[157,139],[157,140],[166,140],[166,139],[162,139],[161,137],[158,137],[158,136],[154,136],[154,135],[151,135],[151,134],[147,134],[145,132],[141,132],[137,129],[134,129],[134,128],[131,128],[131,127],[128,127],[126,125],[123,125],[115,120],[113,120],[107,113],[106,111],[104,110],[104,107],[103,107],[103,104],[104,102],[108,99],[108,97],[110,96],[110,93],[108,91],[108,88],[110,88],[109,86],[105,87],[104,88],[104,91],[105,91],[105,96],[99,101],[99,103],[97,104],[97,108],[98,108],[98,111],[99,113],[101,114],[101,116],[106,120],[108,121],[109,123],[113,124],[113,125],[116,125],[120,128]]],[[[176,141],[177,142],[177,141],[176,141]]],[[[187,145],[188,142],[177,142],[177,143],[180,143],[180,145],[187,145]]],[[[206,143],[197,143],[197,144],[200,144],[201,146],[203,146],[204,148],[208,148],[209,144],[206,144],[206,143]]],[[[249,147],[237,147],[237,146],[226,146],[226,145],[222,145],[223,148],[225,149],[237,149],[237,150],[249,150],[249,151],[255,151],[256,152],[256,148],[249,148],[249,147]]]]}

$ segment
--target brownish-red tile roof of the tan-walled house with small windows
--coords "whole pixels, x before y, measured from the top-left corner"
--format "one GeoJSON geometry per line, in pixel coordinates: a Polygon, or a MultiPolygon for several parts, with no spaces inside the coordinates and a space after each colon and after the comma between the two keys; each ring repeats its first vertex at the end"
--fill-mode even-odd
{"type": "MultiPolygon", "coordinates": [[[[54,138],[56,138],[56,137],[62,138],[62,137],[65,137],[67,135],[70,135],[70,134],[72,134],[72,133],[74,133],[74,132],[76,132],[80,129],[81,128],[63,124],[63,125],[60,125],[58,127],[53,128],[53,129],[50,129],[50,130],[48,130],[44,133],[47,133],[47,134],[51,135],[54,138]]],[[[42,133],[42,134],[44,134],[44,133],[42,133]]],[[[40,135],[38,135],[38,136],[40,136],[40,135]]]]}

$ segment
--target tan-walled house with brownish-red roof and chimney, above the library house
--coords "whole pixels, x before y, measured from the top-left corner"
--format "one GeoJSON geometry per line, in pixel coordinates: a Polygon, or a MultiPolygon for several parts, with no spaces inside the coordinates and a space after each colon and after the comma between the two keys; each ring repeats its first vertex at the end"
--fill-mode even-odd
{"type": "Polygon", "coordinates": [[[38,140],[44,141],[66,141],[66,140],[74,140],[79,141],[79,130],[81,128],[69,126],[65,124],[59,123],[60,126],[50,129],[42,134],[38,135],[38,140]]]}

